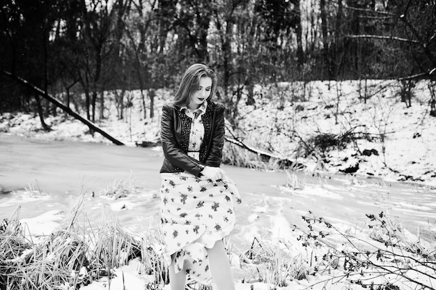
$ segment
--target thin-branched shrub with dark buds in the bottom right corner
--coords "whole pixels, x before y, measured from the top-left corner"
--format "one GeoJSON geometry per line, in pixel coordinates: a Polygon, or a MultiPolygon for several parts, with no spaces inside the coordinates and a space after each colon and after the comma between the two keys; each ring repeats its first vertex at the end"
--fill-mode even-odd
{"type": "Polygon", "coordinates": [[[322,217],[302,217],[307,229],[295,226],[295,231],[300,233],[298,240],[304,247],[320,253],[316,257],[321,261],[318,273],[332,273],[329,278],[332,283],[347,279],[377,290],[433,289],[434,245],[410,241],[405,229],[384,213],[367,217],[369,238],[342,231],[322,217]]]}

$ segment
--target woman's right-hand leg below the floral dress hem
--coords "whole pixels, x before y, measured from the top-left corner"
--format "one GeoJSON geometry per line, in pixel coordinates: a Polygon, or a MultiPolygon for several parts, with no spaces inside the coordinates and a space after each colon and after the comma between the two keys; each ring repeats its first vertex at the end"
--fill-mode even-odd
{"type": "Polygon", "coordinates": [[[230,263],[223,241],[217,241],[212,249],[206,248],[212,278],[219,290],[235,290],[230,263]]]}

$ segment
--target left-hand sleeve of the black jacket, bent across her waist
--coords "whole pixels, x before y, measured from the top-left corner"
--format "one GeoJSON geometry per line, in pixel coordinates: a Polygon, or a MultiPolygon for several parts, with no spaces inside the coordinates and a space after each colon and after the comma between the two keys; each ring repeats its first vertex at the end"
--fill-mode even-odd
{"type": "Polygon", "coordinates": [[[164,107],[162,107],[160,138],[162,141],[164,156],[172,165],[180,167],[195,176],[200,176],[200,172],[203,170],[203,165],[194,158],[188,156],[187,153],[176,144],[176,136],[173,131],[174,117],[172,111],[173,109],[171,109],[169,105],[164,105],[164,107]]]}

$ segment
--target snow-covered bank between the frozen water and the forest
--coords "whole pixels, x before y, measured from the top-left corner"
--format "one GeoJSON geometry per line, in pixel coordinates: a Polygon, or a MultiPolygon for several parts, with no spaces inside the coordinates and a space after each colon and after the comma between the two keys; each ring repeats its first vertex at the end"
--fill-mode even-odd
{"type": "MultiPolygon", "coordinates": [[[[411,107],[398,101],[400,87],[395,81],[368,81],[366,85],[366,96],[371,96],[367,100],[356,81],[259,86],[254,105],[245,105],[245,95],[239,102],[236,134],[254,148],[302,162],[308,171],[338,172],[358,164],[357,175],[436,185],[436,117],[429,114],[428,82],[416,84],[411,107]],[[320,146],[313,147],[316,137],[343,142],[322,152],[320,146]],[[306,156],[308,152],[315,154],[306,156]]],[[[157,91],[153,119],[143,119],[139,92],[128,94],[133,106],[124,110],[125,119],[118,121],[113,102],[107,102],[111,107],[104,112],[106,119],[97,125],[125,144],[156,142],[160,108],[171,100],[171,92],[157,91]]],[[[98,133],[89,135],[86,125],[63,114],[45,121],[51,132],[41,130],[34,114],[3,114],[0,132],[109,142],[98,133]]]]}

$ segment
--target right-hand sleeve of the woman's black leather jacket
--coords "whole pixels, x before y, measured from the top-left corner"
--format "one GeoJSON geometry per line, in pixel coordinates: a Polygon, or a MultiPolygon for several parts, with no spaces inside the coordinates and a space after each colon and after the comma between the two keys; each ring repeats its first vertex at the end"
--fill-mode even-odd
{"type": "Polygon", "coordinates": [[[222,160],[222,151],[224,146],[224,105],[219,104],[215,112],[214,127],[212,128],[212,138],[210,140],[210,152],[206,159],[205,165],[219,167],[222,160]]]}

